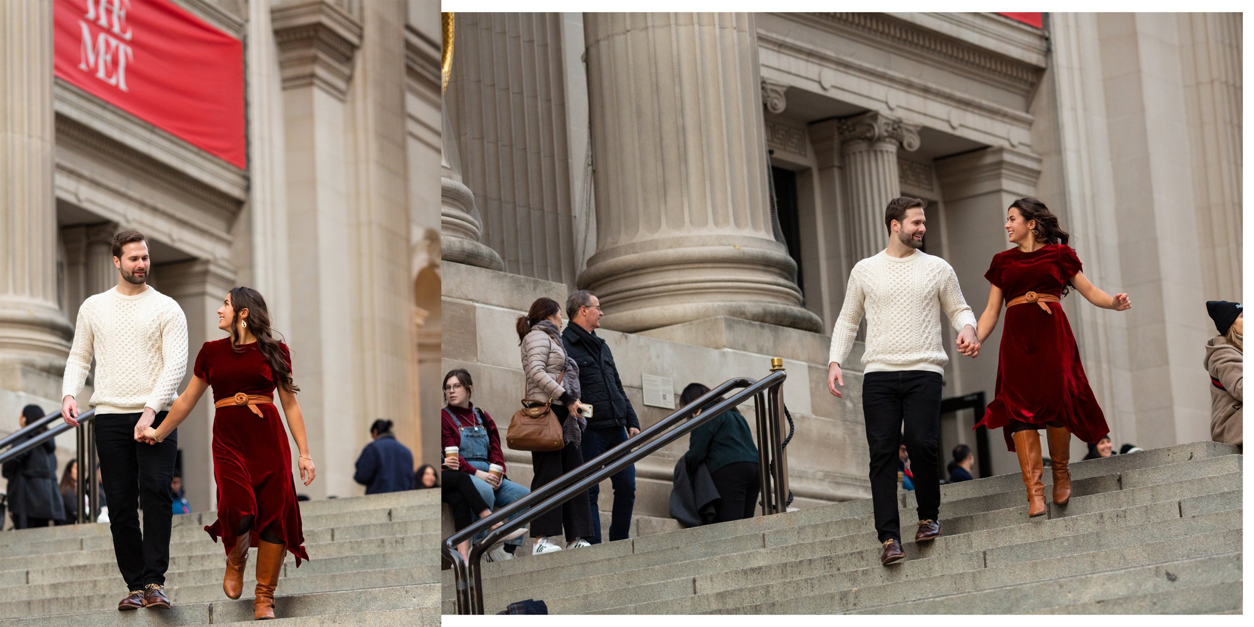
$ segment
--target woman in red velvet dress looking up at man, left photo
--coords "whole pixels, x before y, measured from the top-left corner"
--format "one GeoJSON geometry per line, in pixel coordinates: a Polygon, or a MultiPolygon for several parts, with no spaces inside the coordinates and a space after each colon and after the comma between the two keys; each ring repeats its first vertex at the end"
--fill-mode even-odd
{"type": "Polygon", "coordinates": [[[218,310],[218,329],[229,337],[204,342],[196,356],[196,375],[174,400],[159,428],[144,439],[161,441],[187,418],[206,387],[213,387],[213,478],[218,484],[218,519],[204,528],[227,553],[222,589],[240,598],[248,547],[257,547],[256,619],[275,617],[275,586],[287,552],[296,567],[308,559],[301,533],[301,512],[292,480],[292,451],[273,404],[278,391],[283,415],[300,448],[305,485],[314,482],[314,460],[305,439],[305,419],[296,403],[287,345],[271,337],[266,301],[256,290],[234,287],[218,310]]]}

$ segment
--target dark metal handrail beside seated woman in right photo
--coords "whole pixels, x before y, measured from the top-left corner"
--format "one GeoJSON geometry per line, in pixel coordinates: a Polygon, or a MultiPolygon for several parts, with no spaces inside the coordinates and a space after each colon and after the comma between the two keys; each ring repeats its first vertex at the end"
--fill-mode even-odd
{"type": "Polygon", "coordinates": [[[581,492],[599,484],[606,478],[619,473],[667,444],[687,435],[724,411],[736,409],[750,398],[754,398],[756,403],[755,414],[757,416],[757,455],[762,514],[769,515],[784,512],[789,489],[788,460],[780,430],[780,423],[784,416],[782,385],[784,380],[788,379],[782,361],[779,357],[772,359],[771,374],[760,380],[737,377],[722,382],[691,404],[680,408],[670,416],[645,429],[635,438],[618,444],[596,459],[584,461],[579,468],[563,474],[535,492],[445,538],[440,545],[440,552],[453,564],[453,574],[456,579],[456,612],[459,614],[484,613],[483,578],[479,562],[488,548],[505,534],[517,529],[520,524],[528,523],[545,512],[562,505],[581,492]],[[707,408],[693,418],[707,404],[737,387],[742,390],[707,408]],[[505,522],[515,513],[519,515],[509,520],[509,524],[492,529],[492,525],[505,522]],[[454,547],[480,532],[485,532],[487,537],[479,544],[470,548],[470,559],[466,563],[454,547]]]}

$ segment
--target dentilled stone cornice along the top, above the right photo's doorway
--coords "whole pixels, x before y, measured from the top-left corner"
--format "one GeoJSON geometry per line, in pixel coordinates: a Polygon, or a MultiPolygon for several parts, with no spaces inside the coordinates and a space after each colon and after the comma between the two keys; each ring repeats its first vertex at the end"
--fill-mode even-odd
{"type": "Polygon", "coordinates": [[[884,14],[814,13],[810,15],[828,24],[863,33],[873,40],[915,50],[923,58],[944,60],[953,65],[972,68],[978,74],[997,76],[1020,89],[1030,89],[1041,79],[1042,68],[964,44],[884,14]]]}

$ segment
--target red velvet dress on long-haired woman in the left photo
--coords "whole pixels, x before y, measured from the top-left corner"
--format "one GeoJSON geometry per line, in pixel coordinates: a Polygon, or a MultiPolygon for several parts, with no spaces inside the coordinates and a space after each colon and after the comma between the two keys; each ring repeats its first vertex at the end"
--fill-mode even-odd
{"type": "MultiPolygon", "coordinates": [[[[287,345],[280,344],[287,362],[287,345]]],[[[213,401],[237,393],[260,394],[278,400],[275,377],[257,344],[236,352],[231,339],[204,342],[192,372],[213,387],[213,401]]],[[[252,514],[251,545],[270,529],[287,543],[296,556],[296,567],[308,559],[301,532],[301,510],[292,479],[292,449],[287,430],[272,404],[257,405],[261,416],[248,405],[217,408],[213,414],[213,478],[218,483],[218,519],[204,528],[213,542],[222,538],[226,553],[236,544],[240,518],[252,514]]]]}

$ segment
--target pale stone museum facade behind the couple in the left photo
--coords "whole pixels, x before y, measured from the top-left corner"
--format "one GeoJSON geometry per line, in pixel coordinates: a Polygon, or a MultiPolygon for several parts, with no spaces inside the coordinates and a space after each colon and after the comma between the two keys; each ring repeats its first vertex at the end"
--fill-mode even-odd
{"type": "MultiPolygon", "coordinates": [[[[319,468],[300,492],[361,494],[354,463],[374,420],[394,420],[418,459],[438,438],[419,420],[439,404],[420,394],[440,330],[438,3],[174,1],[245,41],[247,169],[54,80],[50,3],[0,8],[0,45],[20,60],[0,90],[21,94],[0,108],[0,434],[25,403],[60,406],[79,303],[117,282],[109,238],[135,228],[192,356],[221,337],[227,290],[266,296],[319,468]]],[[[179,434],[197,510],[214,507],[211,405],[179,434]]],[[[73,434],[59,445],[64,464],[73,434]]]]}

